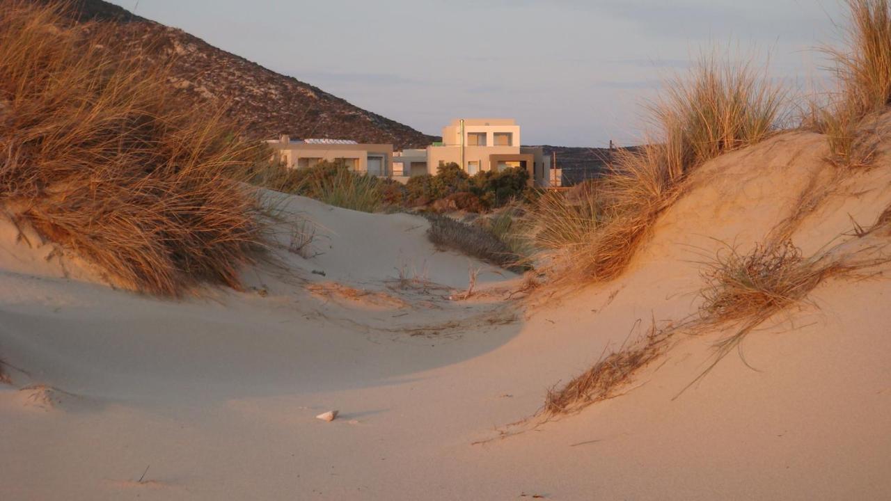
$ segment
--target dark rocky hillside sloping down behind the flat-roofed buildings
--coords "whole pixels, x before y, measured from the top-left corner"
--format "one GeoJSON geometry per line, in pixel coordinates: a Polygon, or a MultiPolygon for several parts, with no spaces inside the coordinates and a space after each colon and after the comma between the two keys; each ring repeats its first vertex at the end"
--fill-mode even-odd
{"type": "Polygon", "coordinates": [[[77,0],[73,14],[78,21],[116,23],[120,45],[115,50],[172,61],[171,85],[180,89],[184,99],[225,105],[250,137],[337,137],[392,143],[397,149],[421,147],[437,139],[117,5],[77,0]]]}

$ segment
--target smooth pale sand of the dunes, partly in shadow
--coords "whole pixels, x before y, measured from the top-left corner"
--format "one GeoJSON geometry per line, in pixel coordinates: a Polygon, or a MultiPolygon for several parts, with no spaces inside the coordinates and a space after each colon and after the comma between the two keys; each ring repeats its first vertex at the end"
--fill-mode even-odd
{"type": "MultiPolygon", "coordinates": [[[[678,334],[621,396],[508,426],[653,320],[694,315],[700,261],[763,241],[830,176],[824,142],[710,162],[625,275],[510,299],[519,277],[437,251],[422,218],[274,193],[282,248],[250,288],[184,300],[115,290],[3,223],[0,499],[889,498],[887,269],[822,283],[683,392],[731,331],[678,334]],[[285,249],[304,218],[308,259],[285,249]]],[[[887,167],[804,218],[805,254],[875,221],[887,167]]]]}

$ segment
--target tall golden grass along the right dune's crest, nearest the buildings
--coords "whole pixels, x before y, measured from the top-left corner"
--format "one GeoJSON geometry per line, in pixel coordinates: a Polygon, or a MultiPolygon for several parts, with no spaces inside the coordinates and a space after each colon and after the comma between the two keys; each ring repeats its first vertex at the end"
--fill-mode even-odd
{"type": "Polygon", "coordinates": [[[616,152],[608,174],[581,201],[544,199],[538,241],[588,279],[615,278],[691,171],[779,127],[784,96],[750,62],[702,57],[648,107],[652,141],[616,152]]]}

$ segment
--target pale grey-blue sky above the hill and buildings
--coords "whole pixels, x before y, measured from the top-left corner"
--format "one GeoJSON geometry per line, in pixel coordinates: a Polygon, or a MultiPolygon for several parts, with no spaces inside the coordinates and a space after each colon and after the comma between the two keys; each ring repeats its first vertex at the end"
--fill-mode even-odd
{"type": "Polygon", "coordinates": [[[825,86],[838,0],[112,0],[430,135],[517,119],[524,144],[642,137],[642,104],[700,53],[825,86]]]}

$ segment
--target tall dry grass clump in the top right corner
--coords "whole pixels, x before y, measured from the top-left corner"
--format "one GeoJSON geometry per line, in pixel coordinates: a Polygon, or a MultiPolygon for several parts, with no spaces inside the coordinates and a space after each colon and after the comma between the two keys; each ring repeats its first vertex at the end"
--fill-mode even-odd
{"type": "Polygon", "coordinates": [[[827,47],[838,94],[811,103],[805,126],[828,136],[830,160],[839,166],[871,162],[874,148],[863,141],[862,123],[891,103],[891,4],[846,0],[848,24],[842,48],[827,47]]]}

